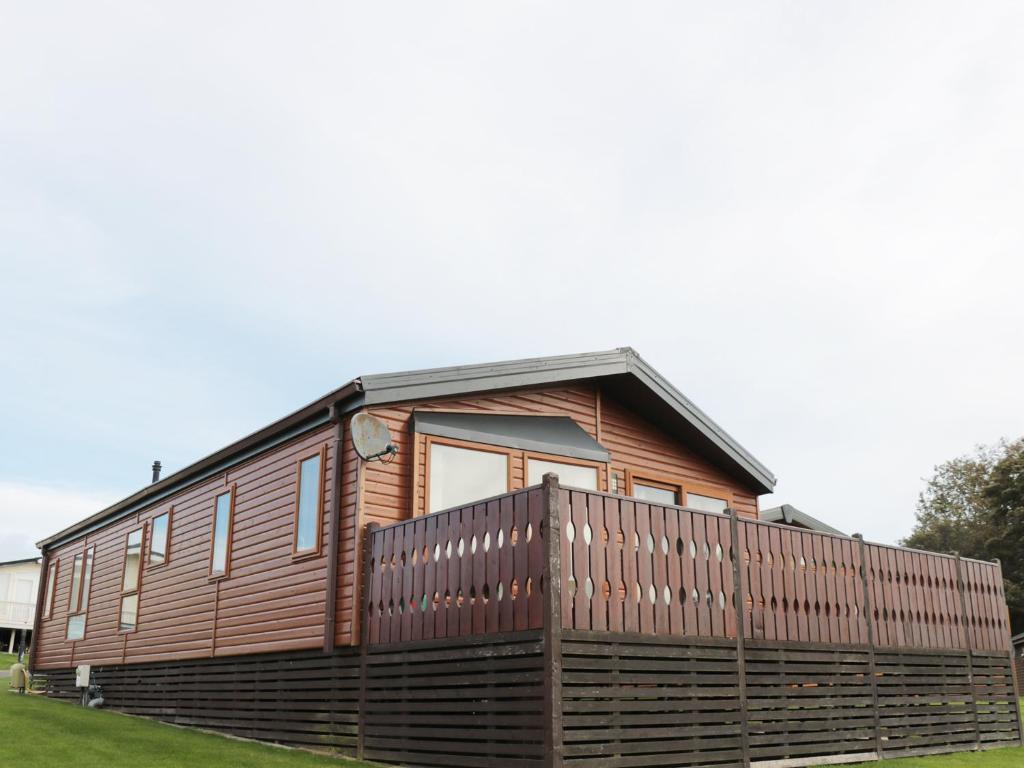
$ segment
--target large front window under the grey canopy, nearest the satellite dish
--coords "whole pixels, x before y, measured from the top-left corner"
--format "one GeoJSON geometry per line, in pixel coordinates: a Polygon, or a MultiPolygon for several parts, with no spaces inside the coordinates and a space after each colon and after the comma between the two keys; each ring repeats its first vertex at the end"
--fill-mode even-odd
{"type": "Polygon", "coordinates": [[[509,489],[508,454],[429,443],[428,512],[487,499],[509,489]]]}

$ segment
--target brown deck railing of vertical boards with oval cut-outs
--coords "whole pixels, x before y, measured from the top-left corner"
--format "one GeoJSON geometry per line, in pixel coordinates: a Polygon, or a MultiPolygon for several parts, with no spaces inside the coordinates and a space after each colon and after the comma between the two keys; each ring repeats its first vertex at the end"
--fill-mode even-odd
{"type": "Polygon", "coordinates": [[[548,483],[369,526],[365,641],[540,629],[557,569],[564,629],[1009,647],[997,563],[548,483]]]}

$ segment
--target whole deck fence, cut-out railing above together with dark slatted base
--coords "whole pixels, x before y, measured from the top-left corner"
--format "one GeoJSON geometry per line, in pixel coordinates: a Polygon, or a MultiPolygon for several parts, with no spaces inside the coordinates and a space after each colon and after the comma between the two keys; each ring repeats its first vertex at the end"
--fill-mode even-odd
{"type": "Polygon", "coordinates": [[[417,723],[360,724],[365,757],[798,768],[1024,743],[997,563],[552,476],[365,544],[364,695],[391,659],[375,695],[417,723]],[[481,725],[431,730],[437,696],[481,725]]]}

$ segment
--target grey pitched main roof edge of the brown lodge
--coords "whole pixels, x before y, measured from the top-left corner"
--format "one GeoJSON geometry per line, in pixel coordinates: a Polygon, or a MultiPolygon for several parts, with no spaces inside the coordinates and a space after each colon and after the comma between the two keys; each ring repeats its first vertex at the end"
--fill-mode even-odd
{"type": "Polygon", "coordinates": [[[273,424],[44,539],[38,546],[57,546],[112,520],[133,514],[297,434],[330,423],[332,413],[345,414],[367,406],[596,378],[602,380],[602,389],[628,402],[631,409],[637,410],[670,434],[688,440],[712,462],[745,477],[752,488],[759,493],[770,493],[774,488],[775,476],[767,467],[683,396],[634,349],[621,347],[604,352],[377,374],[353,379],[273,424]]]}

